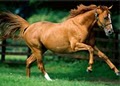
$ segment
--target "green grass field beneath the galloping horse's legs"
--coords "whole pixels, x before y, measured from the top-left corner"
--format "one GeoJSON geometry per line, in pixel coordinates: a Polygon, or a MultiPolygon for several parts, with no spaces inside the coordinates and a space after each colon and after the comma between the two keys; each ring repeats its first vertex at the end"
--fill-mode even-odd
{"type": "Polygon", "coordinates": [[[45,61],[45,67],[53,79],[47,81],[36,64],[31,77],[25,74],[25,64],[0,64],[0,86],[120,86],[120,77],[103,62],[95,62],[93,72],[87,73],[88,62],[45,61]]]}

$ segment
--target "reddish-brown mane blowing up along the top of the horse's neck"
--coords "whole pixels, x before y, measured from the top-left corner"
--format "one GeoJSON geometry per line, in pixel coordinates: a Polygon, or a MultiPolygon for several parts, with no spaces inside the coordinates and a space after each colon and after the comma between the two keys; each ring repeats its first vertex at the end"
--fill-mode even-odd
{"type": "Polygon", "coordinates": [[[68,18],[73,18],[79,14],[83,14],[83,13],[90,11],[90,10],[93,10],[95,8],[97,8],[97,6],[93,5],[93,4],[89,5],[89,6],[85,6],[83,4],[80,4],[79,6],[77,6],[77,9],[71,9],[70,15],[68,18]]]}

